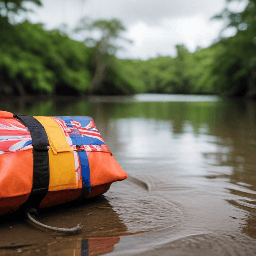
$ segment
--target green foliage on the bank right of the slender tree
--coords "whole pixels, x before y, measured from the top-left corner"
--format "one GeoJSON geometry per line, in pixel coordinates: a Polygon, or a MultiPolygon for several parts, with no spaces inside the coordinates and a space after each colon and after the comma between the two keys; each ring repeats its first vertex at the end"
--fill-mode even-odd
{"type": "Polygon", "coordinates": [[[122,78],[137,92],[256,97],[255,4],[256,0],[249,0],[241,13],[225,9],[215,16],[226,18],[227,28],[237,29],[234,37],[220,37],[218,43],[193,54],[184,45],[177,45],[175,58],[118,60],[122,78]]]}

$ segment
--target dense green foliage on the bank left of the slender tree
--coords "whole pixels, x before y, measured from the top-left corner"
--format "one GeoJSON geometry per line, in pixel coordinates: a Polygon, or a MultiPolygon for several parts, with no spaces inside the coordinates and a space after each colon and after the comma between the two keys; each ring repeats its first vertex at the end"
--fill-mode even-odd
{"type": "Polygon", "coordinates": [[[0,40],[0,94],[83,93],[92,50],[28,21],[9,26],[0,40]]]}

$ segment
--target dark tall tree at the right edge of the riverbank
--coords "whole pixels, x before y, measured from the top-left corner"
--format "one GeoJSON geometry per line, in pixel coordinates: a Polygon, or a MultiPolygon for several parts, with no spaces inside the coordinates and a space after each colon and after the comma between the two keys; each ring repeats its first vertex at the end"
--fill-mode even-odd
{"type": "MultiPolygon", "coordinates": [[[[227,0],[233,2],[235,0],[227,0]]],[[[236,0],[237,1],[237,0],[236,0]]],[[[223,38],[220,34],[222,50],[215,56],[213,75],[218,75],[216,86],[228,95],[256,96],[256,0],[248,0],[245,9],[233,12],[225,8],[213,17],[226,21],[224,28],[233,28],[236,35],[223,38]]]]}

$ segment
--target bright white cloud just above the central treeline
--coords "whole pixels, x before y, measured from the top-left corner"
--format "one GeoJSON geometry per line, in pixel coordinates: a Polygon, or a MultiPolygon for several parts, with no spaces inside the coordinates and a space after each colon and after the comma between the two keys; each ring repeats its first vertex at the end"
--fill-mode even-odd
{"type": "Polygon", "coordinates": [[[210,22],[200,15],[166,18],[157,26],[139,22],[130,26],[126,34],[126,37],[134,41],[133,45],[127,45],[127,50],[119,52],[118,57],[173,57],[177,44],[185,44],[193,52],[198,46],[208,47],[217,38],[221,27],[222,22],[210,22]]]}

